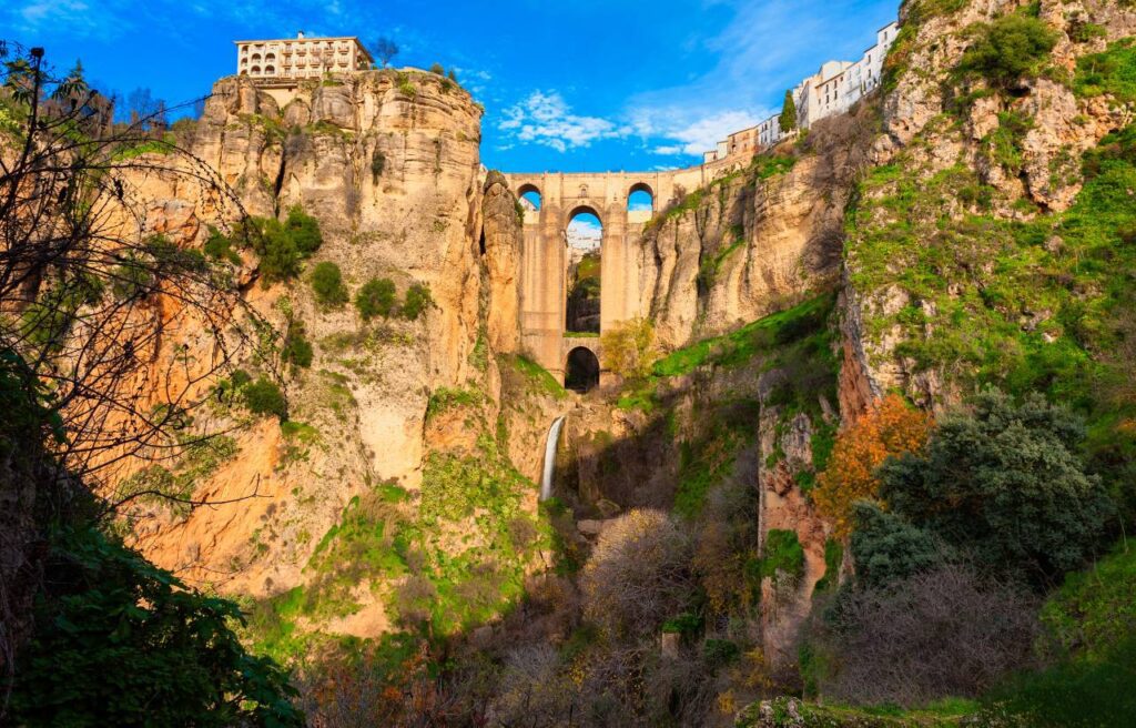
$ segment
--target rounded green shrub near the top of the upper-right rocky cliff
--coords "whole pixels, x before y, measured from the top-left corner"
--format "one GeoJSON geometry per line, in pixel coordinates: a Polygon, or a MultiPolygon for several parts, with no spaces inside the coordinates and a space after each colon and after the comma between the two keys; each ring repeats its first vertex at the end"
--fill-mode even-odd
{"type": "Polygon", "coordinates": [[[962,55],[959,70],[1002,87],[1037,75],[1058,41],[1056,33],[1044,22],[1017,14],[975,26],[971,33],[975,40],[962,55]]]}

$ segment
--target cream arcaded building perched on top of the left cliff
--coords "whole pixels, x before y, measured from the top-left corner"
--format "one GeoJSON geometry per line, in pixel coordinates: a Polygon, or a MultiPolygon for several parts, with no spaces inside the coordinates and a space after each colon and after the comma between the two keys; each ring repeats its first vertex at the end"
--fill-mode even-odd
{"type": "Polygon", "coordinates": [[[375,59],[358,37],[295,37],[235,41],[236,73],[253,78],[312,78],[367,70],[375,59]]]}

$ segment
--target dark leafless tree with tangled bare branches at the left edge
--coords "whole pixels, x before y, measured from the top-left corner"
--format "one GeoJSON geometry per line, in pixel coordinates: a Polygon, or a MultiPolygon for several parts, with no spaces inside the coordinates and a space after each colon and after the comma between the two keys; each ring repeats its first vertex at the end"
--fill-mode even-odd
{"type": "Polygon", "coordinates": [[[211,379],[256,344],[262,321],[229,271],[156,231],[151,183],[176,186],[197,219],[226,229],[244,214],[207,164],[151,137],[154,116],[115,126],[81,75],[57,76],[42,49],[6,42],[0,110],[0,354],[59,417],[41,463],[56,485],[0,474],[0,663],[10,670],[43,559],[33,507],[52,488],[66,499],[65,480],[99,493],[108,512],[136,495],[109,491],[124,463],[181,452],[211,379]],[[198,345],[170,352],[176,335],[198,345]]]}

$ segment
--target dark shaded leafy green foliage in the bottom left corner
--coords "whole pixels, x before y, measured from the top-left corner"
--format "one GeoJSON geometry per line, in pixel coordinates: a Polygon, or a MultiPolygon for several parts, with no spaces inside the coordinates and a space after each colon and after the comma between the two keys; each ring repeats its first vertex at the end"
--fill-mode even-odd
{"type": "Polygon", "coordinates": [[[36,631],[11,694],[17,726],[303,726],[295,692],[270,660],[249,655],[227,600],[95,530],[53,542],[36,631]]]}

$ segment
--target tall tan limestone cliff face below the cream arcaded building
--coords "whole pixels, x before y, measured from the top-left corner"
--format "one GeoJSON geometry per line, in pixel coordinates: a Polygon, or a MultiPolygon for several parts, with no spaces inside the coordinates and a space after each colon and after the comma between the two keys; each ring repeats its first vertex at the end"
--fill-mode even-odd
{"type": "MultiPolygon", "coordinates": [[[[496,407],[494,353],[515,351],[519,340],[520,245],[512,195],[492,181],[483,194],[479,118],[465,91],[433,74],[360,73],[287,94],[237,77],[216,84],[191,149],[247,211],[273,217],[302,207],[324,234],[309,270],[336,263],[351,292],[374,277],[392,279],[400,295],[425,284],[433,306],[418,320],[367,324],[351,306],[317,306],[306,275],[252,285],[254,256],[244,251],[247,302],[278,330],[302,323],[315,345],[312,366],[285,378],[289,416],[301,426],[259,420],[242,429],[236,454],[194,493],[247,499],[239,504],[187,517],[140,508],[136,544],[156,562],[229,593],[303,584],[312,578],[304,564],[353,496],[391,480],[414,497],[431,451],[468,444],[448,440],[460,422],[427,426],[432,393],[474,386],[496,407]]],[[[201,201],[179,199],[159,179],[139,184],[165,199],[154,220],[181,229],[186,244],[204,237],[194,215],[201,201]]],[[[234,424],[224,407],[198,421],[222,430],[234,424]]],[[[329,629],[386,629],[381,600],[365,596],[361,612],[329,629]]]]}

